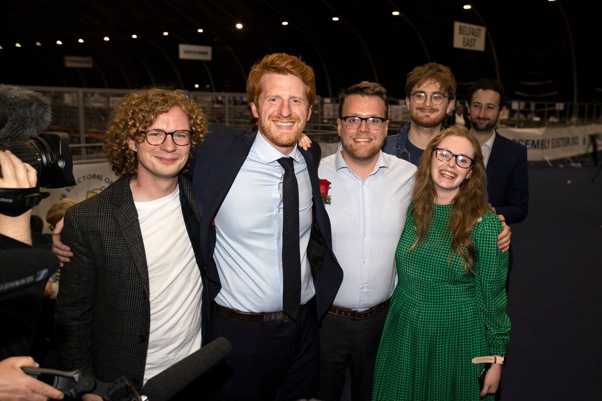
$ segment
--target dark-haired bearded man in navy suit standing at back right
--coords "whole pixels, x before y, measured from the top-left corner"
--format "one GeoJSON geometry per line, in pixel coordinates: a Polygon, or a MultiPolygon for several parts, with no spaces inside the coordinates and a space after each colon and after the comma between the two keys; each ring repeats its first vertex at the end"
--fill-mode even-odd
{"type": "MultiPolygon", "coordinates": [[[[495,130],[498,118],[506,111],[506,89],[500,82],[480,79],[468,89],[468,99],[471,132],[479,139],[483,152],[489,203],[506,224],[521,222],[529,213],[527,148],[495,130]]],[[[506,292],[513,262],[512,244],[508,256],[506,292]]]]}

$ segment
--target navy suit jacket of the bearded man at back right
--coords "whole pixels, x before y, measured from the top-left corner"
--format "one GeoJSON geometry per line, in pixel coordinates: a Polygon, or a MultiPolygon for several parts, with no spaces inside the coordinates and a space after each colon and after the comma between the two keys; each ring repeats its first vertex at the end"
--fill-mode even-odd
{"type": "Polygon", "coordinates": [[[497,131],[485,169],[488,201],[506,224],[523,221],[529,213],[527,148],[497,131]]]}

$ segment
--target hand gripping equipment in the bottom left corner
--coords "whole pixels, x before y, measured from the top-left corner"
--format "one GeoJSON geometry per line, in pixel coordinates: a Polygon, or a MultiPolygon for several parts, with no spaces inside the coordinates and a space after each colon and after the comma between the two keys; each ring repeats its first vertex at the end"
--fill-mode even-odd
{"type": "Polygon", "coordinates": [[[21,367],[39,367],[31,357],[11,357],[0,361],[0,401],[61,400],[64,395],[56,388],[26,375],[21,367]]]}

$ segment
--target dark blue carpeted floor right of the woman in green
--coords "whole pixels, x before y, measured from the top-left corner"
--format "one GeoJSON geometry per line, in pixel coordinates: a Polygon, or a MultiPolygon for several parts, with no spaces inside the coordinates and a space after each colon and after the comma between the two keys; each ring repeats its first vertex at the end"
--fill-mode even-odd
{"type": "Polygon", "coordinates": [[[598,399],[602,376],[602,171],[532,166],[529,216],[512,226],[504,401],[598,399]]]}

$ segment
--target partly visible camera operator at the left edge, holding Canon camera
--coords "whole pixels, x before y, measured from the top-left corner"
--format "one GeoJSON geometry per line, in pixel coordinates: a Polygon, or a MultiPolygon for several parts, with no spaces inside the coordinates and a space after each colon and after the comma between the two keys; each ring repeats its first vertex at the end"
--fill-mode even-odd
{"type": "MultiPolygon", "coordinates": [[[[10,151],[0,150],[0,171],[0,189],[26,189],[37,185],[36,170],[10,151]]],[[[20,300],[21,296],[36,298],[37,294],[41,301],[48,275],[58,268],[58,261],[51,252],[34,251],[36,241],[29,228],[30,216],[31,209],[18,216],[0,214],[0,258],[3,261],[0,269],[0,401],[63,399],[61,391],[22,372],[21,367],[39,366],[33,358],[8,357],[28,354],[37,319],[35,308],[26,310],[26,302],[15,304],[14,300],[20,300]],[[34,263],[29,259],[32,254],[40,256],[34,263]],[[21,263],[10,263],[11,255],[17,256],[21,263]],[[29,258],[20,258],[25,255],[29,258]]]]}

